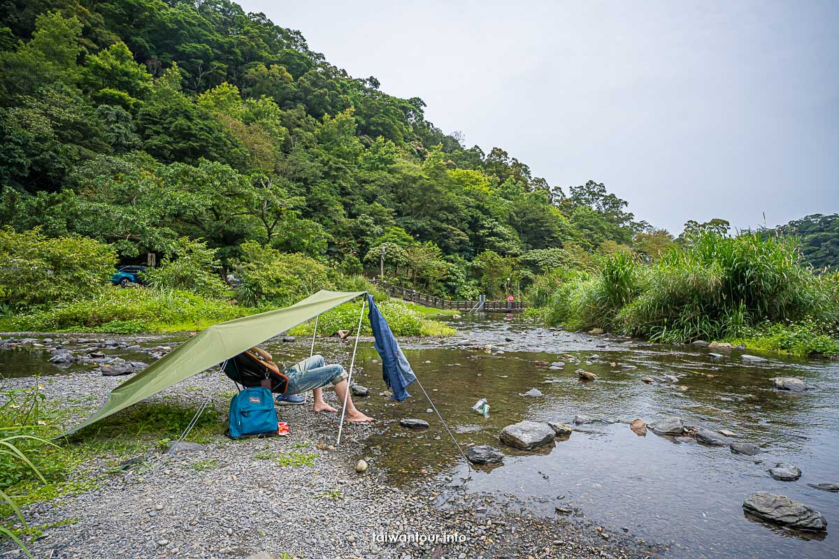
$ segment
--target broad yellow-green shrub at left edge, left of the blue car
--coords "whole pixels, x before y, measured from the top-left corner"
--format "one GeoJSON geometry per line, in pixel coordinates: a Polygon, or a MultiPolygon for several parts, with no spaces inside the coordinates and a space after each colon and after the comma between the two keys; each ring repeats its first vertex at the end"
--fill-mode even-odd
{"type": "Polygon", "coordinates": [[[0,302],[14,308],[102,292],[117,262],[109,245],[86,237],[52,239],[38,229],[0,230],[0,302]]]}

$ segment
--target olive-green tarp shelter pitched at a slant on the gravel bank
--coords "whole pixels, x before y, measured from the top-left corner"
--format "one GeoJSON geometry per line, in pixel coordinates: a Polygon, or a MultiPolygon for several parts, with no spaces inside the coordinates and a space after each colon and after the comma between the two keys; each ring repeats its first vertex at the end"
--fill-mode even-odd
{"type": "Polygon", "coordinates": [[[154,396],[181,380],[219,365],[245,349],[262,344],[266,339],[274,338],[277,334],[282,334],[298,324],[315,318],[320,313],[365,293],[363,291],[319,291],[290,307],[214,324],[117,386],[99,411],[88,417],[85,422],[65,432],[63,436],[77,432],[149,396],[154,396]]]}

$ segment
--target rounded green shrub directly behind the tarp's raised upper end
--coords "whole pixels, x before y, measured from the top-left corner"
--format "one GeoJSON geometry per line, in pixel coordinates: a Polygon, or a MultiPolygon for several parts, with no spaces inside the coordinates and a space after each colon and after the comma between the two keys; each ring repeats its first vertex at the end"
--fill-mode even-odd
{"type": "Polygon", "coordinates": [[[237,287],[239,303],[256,307],[273,304],[287,307],[320,289],[332,287],[326,266],[309,256],[264,248],[248,241],[234,265],[242,283],[237,287]]]}

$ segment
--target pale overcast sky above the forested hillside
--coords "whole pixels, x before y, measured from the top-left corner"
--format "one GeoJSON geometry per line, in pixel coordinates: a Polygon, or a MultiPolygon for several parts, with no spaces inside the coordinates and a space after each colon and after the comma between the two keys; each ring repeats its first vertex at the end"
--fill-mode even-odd
{"type": "Polygon", "coordinates": [[[839,2],[239,2],[467,147],[671,232],[839,211],[839,2]]]}

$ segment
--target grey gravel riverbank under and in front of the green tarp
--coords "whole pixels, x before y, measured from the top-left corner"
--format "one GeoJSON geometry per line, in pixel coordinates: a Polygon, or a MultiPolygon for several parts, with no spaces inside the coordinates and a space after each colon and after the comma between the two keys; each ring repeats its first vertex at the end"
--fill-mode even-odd
{"type": "MultiPolygon", "coordinates": [[[[302,345],[299,351],[307,349],[302,345]]],[[[333,344],[324,353],[335,358],[346,352],[343,344],[333,344]]],[[[41,384],[49,401],[63,402],[75,417],[82,417],[125,378],[103,377],[89,367],[60,377],[0,380],[0,388],[41,384]]],[[[165,396],[197,406],[208,395],[231,389],[229,380],[204,373],[170,388],[165,396]]],[[[336,404],[334,392],[326,391],[326,397],[336,404]]],[[[227,403],[215,397],[211,405],[223,416],[227,403]]],[[[360,407],[364,409],[363,402],[360,407]]],[[[451,478],[407,488],[388,486],[375,459],[363,455],[362,440],[376,432],[376,425],[347,427],[336,449],[334,415],[314,414],[308,406],[284,406],[280,412],[281,421],[291,426],[290,437],[233,442],[221,435],[220,425],[210,443],[165,463],[160,462],[163,453],[149,448],[143,460],[159,465],[154,471],[141,465],[128,474],[113,473],[114,460],[91,463],[84,475],[102,476],[96,489],[24,511],[34,525],[54,525],[30,546],[33,556],[228,558],[268,551],[289,558],[489,559],[655,554],[643,542],[581,520],[533,515],[513,495],[464,494],[451,478]],[[313,465],[283,467],[268,458],[276,453],[302,453],[313,465]],[[371,463],[363,474],[355,470],[358,458],[371,463]],[[413,536],[425,536],[425,541],[410,541],[413,536]],[[442,536],[456,541],[433,541],[442,536]]],[[[23,553],[3,542],[0,556],[23,553]]]]}

